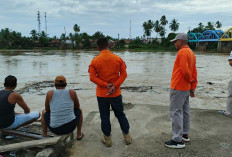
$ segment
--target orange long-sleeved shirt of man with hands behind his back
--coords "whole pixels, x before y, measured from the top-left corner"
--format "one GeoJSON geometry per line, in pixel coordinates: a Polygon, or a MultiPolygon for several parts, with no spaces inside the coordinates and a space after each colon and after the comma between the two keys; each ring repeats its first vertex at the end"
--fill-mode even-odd
{"type": "Polygon", "coordinates": [[[117,97],[121,94],[120,85],[127,77],[126,64],[119,56],[109,50],[103,50],[90,63],[89,77],[90,81],[97,85],[98,97],[117,97]],[[114,83],[116,88],[112,94],[108,94],[108,83],[114,83]]]}

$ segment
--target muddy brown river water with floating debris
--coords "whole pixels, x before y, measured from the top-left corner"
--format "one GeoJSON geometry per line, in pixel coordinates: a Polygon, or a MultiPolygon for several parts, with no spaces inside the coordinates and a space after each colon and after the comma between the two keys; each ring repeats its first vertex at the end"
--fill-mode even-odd
{"type": "MultiPolygon", "coordinates": [[[[32,110],[42,110],[46,92],[53,89],[57,75],[67,78],[67,88],[75,89],[84,111],[98,110],[95,85],[89,81],[88,66],[98,52],[7,51],[0,52],[0,89],[4,78],[18,79],[16,91],[32,110]]],[[[135,105],[169,105],[169,86],[176,52],[116,52],[127,65],[128,77],[122,85],[123,101],[135,105]]],[[[227,84],[232,77],[229,54],[196,53],[198,86],[192,108],[224,109],[227,84]]],[[[21,111],[17,107],[18,111],[21,111]]]]}

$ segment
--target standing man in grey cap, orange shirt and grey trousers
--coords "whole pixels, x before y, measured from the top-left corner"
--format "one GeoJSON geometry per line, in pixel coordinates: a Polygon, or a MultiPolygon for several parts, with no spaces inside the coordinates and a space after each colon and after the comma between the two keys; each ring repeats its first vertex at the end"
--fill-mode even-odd
{"type": "Polygon", "coordinates": [[[197,86],[196,56],[188,47],[188,35],[177,34],[171,40],[179,50],[174,63],[170,90],[170,119],[173,137],[165,145],[170,148],[184,148],[184,142],[190,141],[189,95],[194,97],[197,86]]]}

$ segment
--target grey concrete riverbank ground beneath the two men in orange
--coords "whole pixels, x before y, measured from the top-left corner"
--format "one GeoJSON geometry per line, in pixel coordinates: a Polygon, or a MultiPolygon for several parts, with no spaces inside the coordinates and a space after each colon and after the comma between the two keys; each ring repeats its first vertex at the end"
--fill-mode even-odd
{"type": "Polygon", "coordinates": [[[89,112],[84,118],[85,137],[75,141],[71,157],[231,157],[232,118],[217,110],[191,109],[190,142],[181,150],[170,149],[164,142],[170,140],[169,108],[158,105],[126,104],[125,113],[130,122],[131,145],[125,145],[117,119],[111,111],[112,147],[101,143],[99,112],[89,112]]]}

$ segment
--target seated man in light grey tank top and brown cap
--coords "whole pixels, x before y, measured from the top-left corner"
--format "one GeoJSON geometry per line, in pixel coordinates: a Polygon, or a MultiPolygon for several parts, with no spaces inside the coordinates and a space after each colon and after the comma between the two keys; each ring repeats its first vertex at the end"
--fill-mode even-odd
{"type": "Polygon", "coordinates": [[[47,127],[56,135],[69,134],[77,128],[77,140],[81,140],[83,114],[77,94],[73,89],[65,89],[64,76],[57,76],[54,84],[56,89],[48,91],[42,112],[43,136],[47,137],[47,127]]]}

